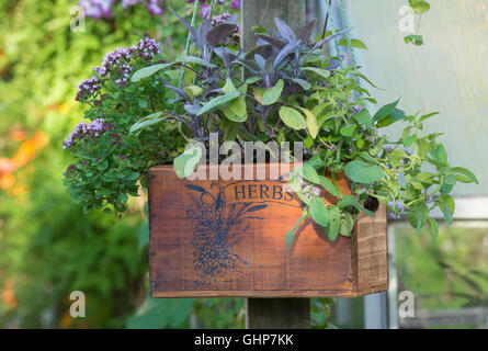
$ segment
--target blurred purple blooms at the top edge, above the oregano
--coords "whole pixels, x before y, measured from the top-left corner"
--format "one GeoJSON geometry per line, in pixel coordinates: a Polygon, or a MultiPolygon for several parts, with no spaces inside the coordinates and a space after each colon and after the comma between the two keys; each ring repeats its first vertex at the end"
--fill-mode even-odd
{"type": "MultiPolygon", "coordinates": [[[[84,9],[89,18],[111,20],[114,3],[115,0],[79,0],[78,5],[84,9]]],[[[164,14],[164,10],[161,8],[159,0],[122,0],[122,8],[126,10],[138,3],[146,3],[147,10],[155,15],[164,14]]]]}

